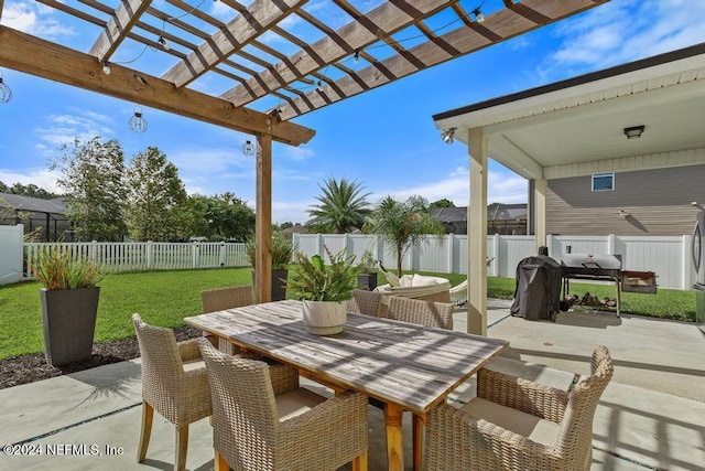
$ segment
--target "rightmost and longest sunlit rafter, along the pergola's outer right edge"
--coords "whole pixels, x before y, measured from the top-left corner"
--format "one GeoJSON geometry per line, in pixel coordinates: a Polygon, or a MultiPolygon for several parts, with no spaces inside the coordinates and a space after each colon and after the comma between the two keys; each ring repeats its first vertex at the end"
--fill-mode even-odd
{"type": "Polygon", "coordinates": [[[408,54],[397,54],[358,71],[358,79],[349,76],[341,77],[328,84],[323,92],[310,92],[305,97],[296,98],[292,105],[280,107],[280,116],[284,120],[291,119],[608,1],[523,0],[521,3],[513,4],[511,9],[503,9],[486,17],[481,24],[464,25],[443,34],[436,41],[429,41],[410,49],[408,54]],[[413,56],[414,61],[405,57],[408,55],[413,56]],[[420,63],[424,66],[420,67],[420,63]],[[364,86],[360,85],[360,79],[365,83],[364,86]]]}

